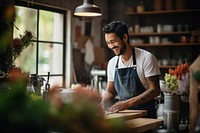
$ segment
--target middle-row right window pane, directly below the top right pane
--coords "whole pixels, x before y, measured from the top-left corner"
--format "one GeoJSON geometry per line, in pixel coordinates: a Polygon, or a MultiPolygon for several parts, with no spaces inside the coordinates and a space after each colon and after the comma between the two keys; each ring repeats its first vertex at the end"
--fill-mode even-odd
{"type": "Polygon", "coordinates": [[[63,73],[63,45],[39,43],[38,74],[63,73]]]}

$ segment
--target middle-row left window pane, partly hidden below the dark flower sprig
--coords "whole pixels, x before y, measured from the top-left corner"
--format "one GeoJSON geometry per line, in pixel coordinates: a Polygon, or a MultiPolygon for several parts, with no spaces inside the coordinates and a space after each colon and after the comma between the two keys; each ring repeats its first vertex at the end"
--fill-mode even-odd
{"type": "Polygon", "coordinates": [[[20,67],[23,72],[36,73],[36,43],[24,49],[15,60],[15,65],[20,67]]]}

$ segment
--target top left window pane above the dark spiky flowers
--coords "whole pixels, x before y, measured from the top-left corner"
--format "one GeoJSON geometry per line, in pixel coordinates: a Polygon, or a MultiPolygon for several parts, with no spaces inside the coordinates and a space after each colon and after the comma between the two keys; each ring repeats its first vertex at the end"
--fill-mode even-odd
{"type": "Polygon", "coordinates": [[[15,6],[16,18],[14,27],[14,37],[19,37],[19,34],[24,34],[26,30],[30,31],[34,37],[37,37],[37,10],[15,6]]]}

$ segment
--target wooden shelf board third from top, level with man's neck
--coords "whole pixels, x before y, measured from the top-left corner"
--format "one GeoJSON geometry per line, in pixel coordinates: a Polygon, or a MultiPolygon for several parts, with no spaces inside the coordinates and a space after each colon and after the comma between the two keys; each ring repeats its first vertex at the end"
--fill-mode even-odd
{"type": "Polygon", "coordinates": [[[162,47],[162,46],[197,46],[200,43],[170,43],[170,44],[131,44],[133,47],[162,47]]]}

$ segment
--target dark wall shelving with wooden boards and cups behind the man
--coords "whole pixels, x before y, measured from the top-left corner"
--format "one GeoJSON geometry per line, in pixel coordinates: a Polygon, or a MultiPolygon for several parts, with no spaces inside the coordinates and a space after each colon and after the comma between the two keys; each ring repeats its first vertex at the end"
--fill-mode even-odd
{"type": "MultiPolygon", "coordinates": [[[[147,9],[150,9],[150,7],[148,7],[149,6],[147,5],[147,9]]],[[[200,42],[198,41],[200,36],[198,25],[199,19],[196,19],[198,18],[199,14],[200,8],[183,10],[144,11],[140,13],[136,11],[125,12],[125,15],[128,15],[130,19],[133,19],[133,21],[130,21],[131,25],[133,26],[131,28],[133,29],[130,29],[130,31],[132,32],[129,32],[130,42],[132,42],[131,46],[149,50],[150,52],[156,54],[156,57],[160,61],[162,61],[162,59],[177,58],[179,59],[178,61],[182,62],[187,60],[187,62],[191,63],[196,58],[196,56],[199,55],[200,52],[200,42]],[[161,25],[162,28],[160,31],[163,32],[156,32],[157,28],[159,28],[158,24],[161,25]],[[139,28],[137,27],[137,25],[139,25],[139,28]],[[172,25],[173,30],[165,30],[164,25],[172,25]],[[150,27],[149,29],[148,26],[150,27]],[[146,27],[147,30],[145,29],[146,27]],[[144,30],[140,28],[144,28],[144,30]],[[193,42],[193,38],[191,37],[195,38],[194,42],[196,43],[190,43],[193,42]],[[165,41],[165,39],[167,41],[165,41]]],[[[162,75],[167,69],[174,69],[176,67],[176,65],[171,64],[160,64],[159,66],[162,75]]]]}

